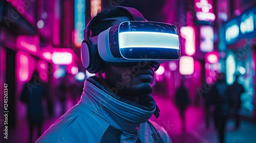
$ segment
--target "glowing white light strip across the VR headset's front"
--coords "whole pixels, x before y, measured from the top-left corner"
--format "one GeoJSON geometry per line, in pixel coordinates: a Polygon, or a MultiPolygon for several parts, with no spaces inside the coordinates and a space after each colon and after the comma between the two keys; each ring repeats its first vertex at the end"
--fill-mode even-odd
{"type": "Polygon", "coordinates": [[[122,32],[119,33],[119,48],[159,47],[179,49],[179,36],[160,32],[122,32]]]}

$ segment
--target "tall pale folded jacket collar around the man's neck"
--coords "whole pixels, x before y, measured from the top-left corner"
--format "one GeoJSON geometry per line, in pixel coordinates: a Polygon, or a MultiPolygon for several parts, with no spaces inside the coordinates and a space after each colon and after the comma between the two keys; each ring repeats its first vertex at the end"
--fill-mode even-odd
{"type": "MultiPolygon", "coordinates": [[[[84,82],[80,103],[109,122],[112,126],[129,133],[138,134],[139,125],[147,122],[155,110],[159,110],[150,94],[143,98],[143,105],[121,99],[100,85],[93,78],[84,82]]],[[[159,111],[158,111],[159,112],[159,111]]]]}

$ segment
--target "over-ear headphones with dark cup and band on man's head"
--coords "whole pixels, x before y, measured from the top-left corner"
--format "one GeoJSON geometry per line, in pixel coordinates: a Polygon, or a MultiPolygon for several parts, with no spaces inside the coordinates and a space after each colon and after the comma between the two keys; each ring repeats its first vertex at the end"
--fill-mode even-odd
{"type": "MultiPolygon", "coordinates": [[[[124,9],[128,11],[135,21],[147,21],[143,15],[135,8],[116,6],[115,8],[124,9]]],[[[89,71],[89,73],[98,73],[100,70],[103,60],[99,56],[97,45],[93,45],[91,38],[91,21],[89,21],[86,29],[83,30],[84,39],[81,44],[81,60],[82,65],[89,71]]]]}

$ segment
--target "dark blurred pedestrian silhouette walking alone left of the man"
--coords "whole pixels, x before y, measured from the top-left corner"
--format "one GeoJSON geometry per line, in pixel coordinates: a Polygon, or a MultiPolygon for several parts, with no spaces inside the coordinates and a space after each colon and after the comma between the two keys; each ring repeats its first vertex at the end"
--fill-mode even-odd
{"type": "Polygon", "coordinates": [[[42,98],[49,101],[49,94],[45,83],[39,78],[37,71],[34,71],[32,78],[23,88],[20,100],[27,105],[27,118],[29,122],[29,142],[33,140],[33,129],[37,127],[37,138],[41,135],[44,112],[42,98]]]}

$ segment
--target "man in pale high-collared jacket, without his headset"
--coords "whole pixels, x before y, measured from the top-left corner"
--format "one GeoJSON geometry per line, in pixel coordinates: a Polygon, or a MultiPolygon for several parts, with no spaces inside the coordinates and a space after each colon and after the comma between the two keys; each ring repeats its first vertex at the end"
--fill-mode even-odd
{"type": "MultiPolygon", "coordinates": [[[[123,21],[134,21],[133,15],[123,8],[99,12],[89,22],[85,40],[123,21]]],[[[137,11],[130,10],[132,13],[137,11]]],[[[84,43],[82,61],[83,54],[90,53],[83,49],[84,43]]],[[[101,60],[99,55],[88,54],[86,58],[91,62],[101,60]]],[[[96,76],[84,82],[79,103],[62,115],[36,142],[172,142],[162,127],[148,121],[153,114],[157,117],[159,114],[150,95],[158,62],[126,62],[117,66],[104,61],[97,64],[101,65],[98,70],[89,68],[90,65],[94,66],[83,61],[83,66],[96,76]]]]}

